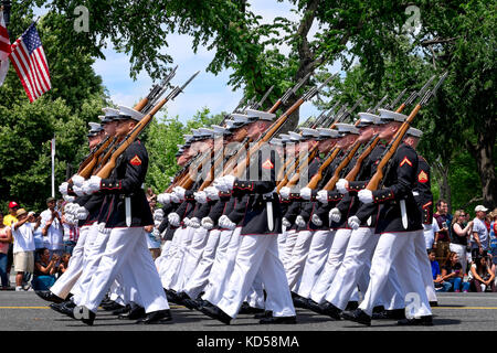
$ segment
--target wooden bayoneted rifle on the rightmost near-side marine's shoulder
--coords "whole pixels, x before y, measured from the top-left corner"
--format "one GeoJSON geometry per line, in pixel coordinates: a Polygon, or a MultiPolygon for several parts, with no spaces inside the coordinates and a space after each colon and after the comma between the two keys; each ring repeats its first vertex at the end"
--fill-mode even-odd
{"type": "Polygon", "coordinates": [[[412,120],[414,120],[414,117],[416,116],[417,111],[420,111],[421,107],[425,106],[430,99],[436,95],[436,92],[438,90],[442,83],[445,81],[445,77],[447,77],[447,72],[442,75],[442,77],[438,79],[438,83],[435,85],[435,87],[432,90],[429,90],[423,98],[420,100],[420,103],[414,107],[414,109],[409,115],[408,119],[402,124],[399,131],[396,132],[394,139],[390,143],[390,148],[385,150],[383,153],[374,175],[370,179],[368,182],[368,185],[366,189],[370,191],[378,190],[378,186],[380,185],[380,182],[383,180],[383,170],[387,163],[391,160],[391,158],[395,154],[396,149],[399,148],[405,132],[408,131],[412,120]]]}

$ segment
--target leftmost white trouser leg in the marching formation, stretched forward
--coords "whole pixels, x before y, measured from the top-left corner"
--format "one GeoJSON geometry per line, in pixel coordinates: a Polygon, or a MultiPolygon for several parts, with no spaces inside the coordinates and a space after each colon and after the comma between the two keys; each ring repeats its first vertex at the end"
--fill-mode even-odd
{"type": "Polygon", "coordinates": [[[83,272],[84,246],[88,232],[89,225],[85,225],[80,228],[80,237],[74,246],[73,255],[70,258],[67,269],[50,288],[50,291],[60,298],[66,298],[68,296],[71,289],[74,287],[83,272]]]}

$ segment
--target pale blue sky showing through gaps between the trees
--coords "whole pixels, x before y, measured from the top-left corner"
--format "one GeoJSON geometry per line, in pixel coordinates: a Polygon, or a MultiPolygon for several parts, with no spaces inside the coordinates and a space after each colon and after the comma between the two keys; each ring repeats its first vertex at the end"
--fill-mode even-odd
{"type": "MultiPolygon", "coordinates": [[[[252,11],[263,18],[263,23],[272,22],[275,17],[286,17],[290,20],[298,18],[290,11],[293,6],[286,0],[283,2],[251,0],[248,2],[252,11]]],[[[42,11],[39,12],[42,14],[42,11]]],[[[89,15],[92,14],[89,13],[89,15]]],[[[316,28],[317,25],[313,26],[309,36],[316,33],[316,28]]],[[[188,35],[173,34],[168,36],[167,41],[169,46],[165,47],[165,51],[172,56],[173,64],[178,65],[172,84],[180,85],[194,72],[201,71],[184,93],[167,104],[168,116],[179,116],[179,119],[184,122],[202,107],[208,107],[212,114],[231,111],[242,98],[243,93],[241,89],[232,90],[228,86],[230,71],[223,71],[216,76],[205,72],[214,52],[208,51],[205,47],[199,47],[198,52],[193,53],[191,49],[192,40],[188,35]]],[[[282,53],[288,52],[287,47],[279,47],[279,50],[282,53]]],[[[133,106],[138,98],[148,94],[152,81],[145,72],[141,72],[136,81],[131,79],[129,76],[129,57],[126,54],[117,53],[110,45],[103,52],[106,60],[95,62],[93,65],[95,72],[102,76],[104,85],[115,104],[133,106]]],[[[330,69],[336,73],[337,65],[332,65],[330,69]]],[[[305,103],[300,108],[300,119],[317,113],[311,103],[305,103]]],[[[159,114],[160,116],[161,114],[159,114]]]]}

